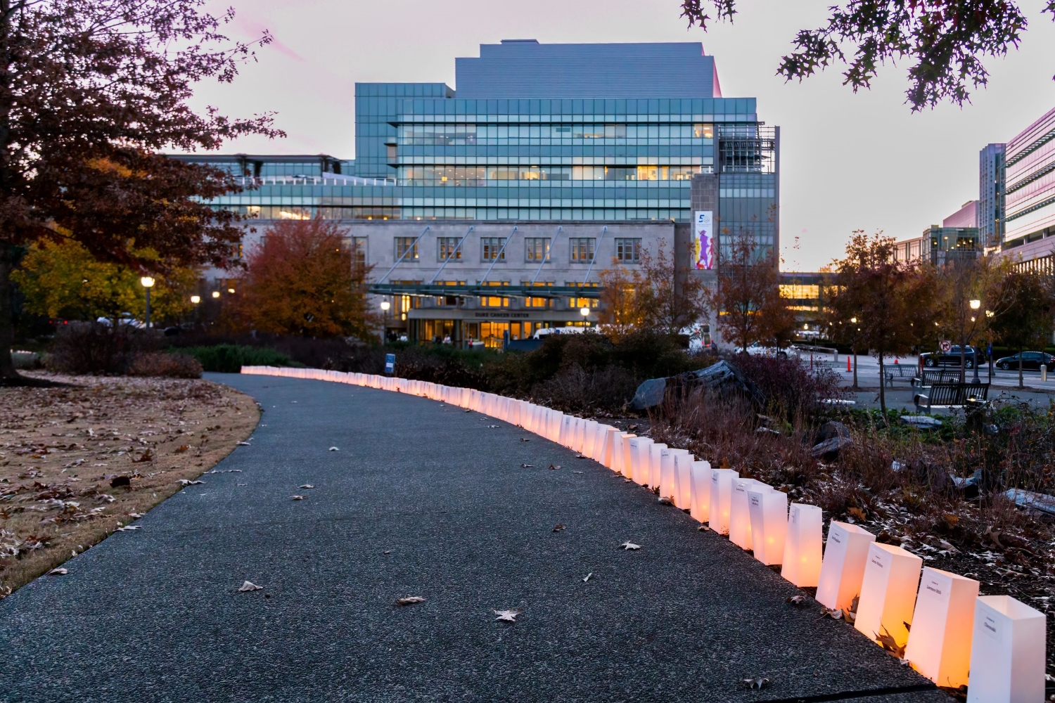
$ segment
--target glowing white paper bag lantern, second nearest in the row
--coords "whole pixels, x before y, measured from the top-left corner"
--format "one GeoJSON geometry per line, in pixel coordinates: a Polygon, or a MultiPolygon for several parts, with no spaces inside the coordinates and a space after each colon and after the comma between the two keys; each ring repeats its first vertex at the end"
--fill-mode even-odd
{"type": "Polygon", "coordinates": [[[923,567],[905,659],[939,686],[967,683],[977,598],[974,579],[923,567]]]}

